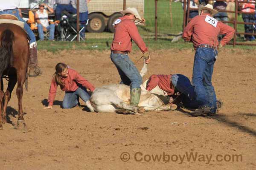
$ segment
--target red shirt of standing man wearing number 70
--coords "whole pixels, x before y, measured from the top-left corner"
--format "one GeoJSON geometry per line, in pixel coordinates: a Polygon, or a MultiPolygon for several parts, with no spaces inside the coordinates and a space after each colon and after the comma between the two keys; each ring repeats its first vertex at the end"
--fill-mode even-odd
{"type": "MultiPolygon", "coordinates": [[[[183,31],[182,37],[185,41],[192,41],[194,48],[200,44],[208,44],[214,47],[218,46],[218,34],[226,34],[221,40],[221,45],[224,46],[229,42],[235,30],[227,24],[218,21],[217,26],[214,27],[205,21],[209,14],[202,14],[194,17],[183,31]]],[[[210,16],[210,15],[209,15],[210,16]]]]}

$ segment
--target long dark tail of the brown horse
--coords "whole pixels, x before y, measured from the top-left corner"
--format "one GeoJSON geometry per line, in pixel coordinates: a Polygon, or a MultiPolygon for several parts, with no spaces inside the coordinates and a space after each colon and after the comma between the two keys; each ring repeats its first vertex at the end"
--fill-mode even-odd
{"type": "Polygon", "coordinates": [[[1,45],[0,45],[0,76],[3,71],[13,64],[13,51],[12,42],[14,41],[14,34],[11,30],[6,29],[2,33],[1,45]]]}

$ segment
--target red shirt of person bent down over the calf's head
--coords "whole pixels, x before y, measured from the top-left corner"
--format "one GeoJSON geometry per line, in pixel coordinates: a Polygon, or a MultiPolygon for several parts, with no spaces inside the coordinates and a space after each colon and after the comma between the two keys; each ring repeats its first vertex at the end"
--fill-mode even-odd
{"type": "Polygon", "coordinates": [[[152,75],[148,79],[147,83],[147,91],[151,91],[153,88],[155,88],[157,85],[163,90],[166,91],[166,93],[170,96],[174,94],[174,87],[171,82],[171,76],[170,75],[152,75]]]}

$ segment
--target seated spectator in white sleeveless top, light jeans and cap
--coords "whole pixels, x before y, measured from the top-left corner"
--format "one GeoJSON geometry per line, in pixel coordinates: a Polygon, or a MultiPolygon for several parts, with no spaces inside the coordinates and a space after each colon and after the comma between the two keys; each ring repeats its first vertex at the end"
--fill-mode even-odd
{"type": "Polygon", "coordinates": [[[54,30],[55,30],[55,24],[49,25],[48,20],[48,11],[44,9],[44,7],[47,7],[50,13],[53,13],[53,9],[47,6],[44,3],[39,4],[38,11],[35,12],[35,20],[38,23],[38,34],[40,40],[44,40],[44,31],[50,31],[49,33],[49,40],[54,40],[54,30]]]}

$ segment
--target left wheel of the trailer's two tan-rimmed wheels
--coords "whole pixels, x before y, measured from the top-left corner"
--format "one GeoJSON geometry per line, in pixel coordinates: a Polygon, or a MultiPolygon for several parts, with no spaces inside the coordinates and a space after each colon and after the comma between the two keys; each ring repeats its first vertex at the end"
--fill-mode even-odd
{"type": "Polygon", "coordinates": [[[104,17],[102,14],[90,14],[89,23],[87,26],[88,32],[102,32],[104,31],[106,24],[104,22],[104,17]]]}

